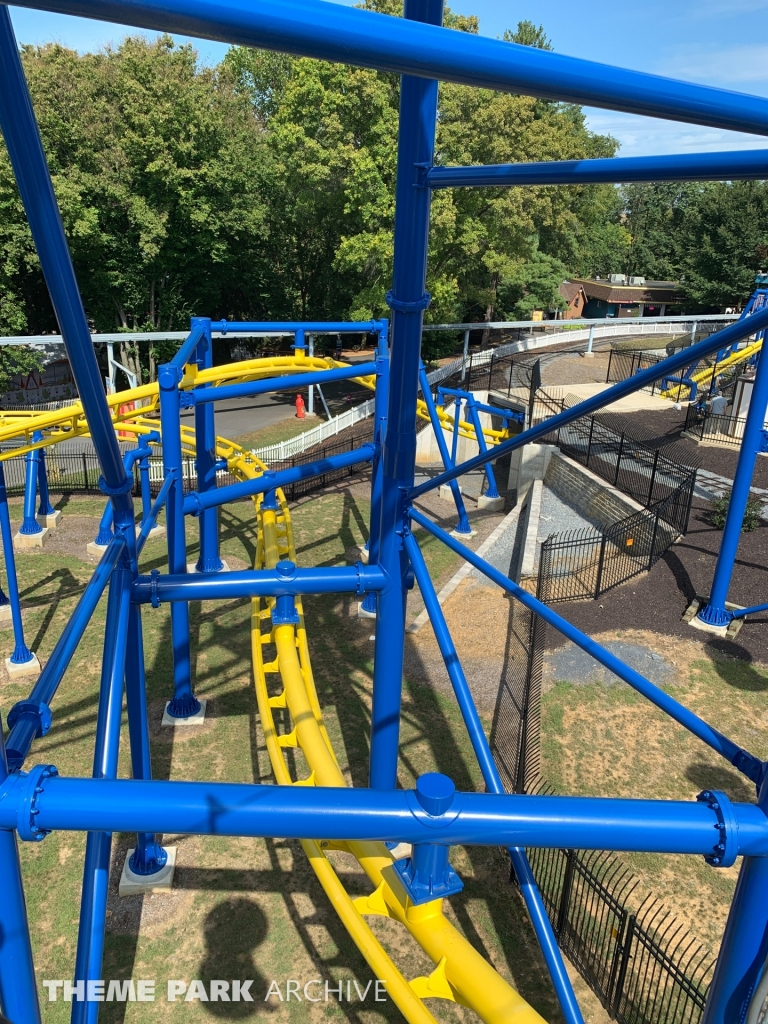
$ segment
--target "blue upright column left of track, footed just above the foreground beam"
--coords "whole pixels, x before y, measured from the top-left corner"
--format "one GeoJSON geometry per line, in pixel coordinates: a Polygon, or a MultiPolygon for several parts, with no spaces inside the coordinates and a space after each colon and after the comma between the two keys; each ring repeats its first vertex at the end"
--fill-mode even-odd
{"type": "MultiPolygon", "coordinates": [[[[168,570],[186,572],[186,540],[184,538],[184,485],[179,420],[181,369],[171,364],[160,368],[160,422],[163,428],[163,470],[173,483],[166,501],[168,531],[168,570]]],[[[168,705],[172,718],[189,718],[200,711],[200,701],[193,693],[189,660],[189,608],[186,601],[171,604],[171,643],[173,645],[173,699],[168,705]]]]}

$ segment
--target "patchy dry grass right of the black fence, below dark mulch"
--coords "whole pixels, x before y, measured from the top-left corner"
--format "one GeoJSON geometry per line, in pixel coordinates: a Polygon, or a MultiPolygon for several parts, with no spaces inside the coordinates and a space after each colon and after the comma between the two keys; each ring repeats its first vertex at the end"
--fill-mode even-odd
{"type": "MultiPolygon", "coordinates": [[[[768,669],[701,656],[669,692],[759,757],[768,755],[768,669]]],[[[722,790],[755,802],[755,786],[726,761],[627,686],[558,683],[542,701],[542,771],[559,793],[693,800],[722,790]]],[[[653,892],[716,950],[740,860],[727,869],[700,857],[621,854],[653,892]]],[[[639,901],[638,899],[638,901],[639,901]]]]}

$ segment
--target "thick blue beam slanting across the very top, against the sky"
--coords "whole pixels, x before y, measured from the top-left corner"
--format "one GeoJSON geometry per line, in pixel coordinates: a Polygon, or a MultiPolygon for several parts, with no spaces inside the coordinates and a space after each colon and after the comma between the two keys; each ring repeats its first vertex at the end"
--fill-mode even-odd
{"type": "Polygon", "coordinates": [[[768,101],[757,96],[483,36],[452,36],[447,29],[322,0],[302,0],[298,15],[283,0],[22,0],[19,6],[768,135],[768,101]]]}

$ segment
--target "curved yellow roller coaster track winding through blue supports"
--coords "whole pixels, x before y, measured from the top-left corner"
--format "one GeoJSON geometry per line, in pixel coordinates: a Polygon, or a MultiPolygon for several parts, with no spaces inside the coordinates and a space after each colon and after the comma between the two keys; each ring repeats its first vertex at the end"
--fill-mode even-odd
{"type": "MultiPolygon", "coordinates": [[[[306,370],[328,369],[332,360],[286,357],[253,359],[196,374],[187,368],[183,386],[194,382],[214,385],[261,377],[279,376],[306,370]]],[[[369,384],[365,380],[361,383],[369,384]]],[[[155,411],[157,385],[110,397],[115,422],[121,430],[142,434],[159,429],[157,420],[147,414],[155,411]],[[141,399],[140,412],[121,414],[120,406],[141,399]]],[[[424,411],[425,413],[425,411],[424,411]]],[[[451,420],[442,414],[443,422],[451,420]]],[[[451,420],[453,426],[453,420],[451,420]]],[[[474,436],[470,424],[461,424],[468,436],[474,436]]],[[[24,446],[4,453],[0,459],[19,452],[55,444],[73,436],[88,433],[79,403],[51,413],[22,413],[0,416],[0,441],[23,438],[24,446]],[[32,441],[34,431],[43,432],[42,441],[32,441]]],[[[194,453],[195,433],[182,427],[182,445],[194,453]]],[[[498,437],[489,433],[489,441],[498,437]]],[[[238,444],[217,438],[217,455],[225,459],[229,472],[240,479],[251,479],[266,468],[262,462],[238,444]]],[[[291,515],[282,492],[278,492],[279,511],[261,508],[260,497],[254,501],[258,525],[255,568],[272,567],[281,558],[296,561],[291,515]]],[[[251,606],[251,641],[256,700],[264,731],[269,760],[280,785],[344,786],[328,731],[323,721],[309,660],[304,613],[300,599],[298,626],[271,625],[271,599],[257,598],[251,606]],[[290,727],[281,731],[274,710],[285,710],[290,727]],[[298,748],[308,766],[305,778],[294,778],[286,760],[286,751],[298,748]]],[[[498,974],[464,936],[447,921],[442,900],[414,906],[393,868],[393,857],[383,843],[330,844],[322,838],[302,841],[302,846],[317,879],[342,924],[354,940],[372,971],[386,984],[389,997],[411,1024],[435,1024],[425,1004],[428,998],[450,999],[468,1007],[486,1024],[543,1024],[543,1018],[498,974]],[[359,862],[371,882],[371,893],[352,899],[344,889],[331,860],[330,849],[343,849],[359,862]],[[366,920],[385,916],[403,927],[435,965],[428,977],[407,979],[366,920]]]]}

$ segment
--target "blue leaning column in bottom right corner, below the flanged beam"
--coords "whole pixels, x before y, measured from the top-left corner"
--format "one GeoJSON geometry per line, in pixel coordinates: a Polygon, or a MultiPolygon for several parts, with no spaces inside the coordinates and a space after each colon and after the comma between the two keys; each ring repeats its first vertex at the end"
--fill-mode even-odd
{"type": "MultiPolygon", "coordinates": [[[[768,779],[758,801],[768,810],[768,779]]],[[[744,857],[701,1024],[741,1024],[768,970],[768,857],[744,857]]],[[[756,1015],[754,1020],[758,1020],[756,1015]]]]}

